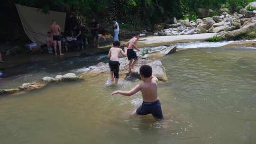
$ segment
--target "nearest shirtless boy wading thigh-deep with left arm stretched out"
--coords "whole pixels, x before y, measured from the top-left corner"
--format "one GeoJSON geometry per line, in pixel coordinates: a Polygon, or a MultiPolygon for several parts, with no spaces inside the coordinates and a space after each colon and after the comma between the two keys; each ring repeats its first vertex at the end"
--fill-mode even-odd
{"type": "Polygon", "coordinates": [[[152,75],[152,68],[149,65],[143,65],[139,69],[140,78],[143,83],[138,84],[130,91],[117,90],[111,95],[121,94],[124,96],[131,96],[138,91],[141,91],[143,103],[137,108],[137,115],[152,114],[156,119],[162,119],[162,108],[157,96],[157,81],[158,79],[152,75]]]}

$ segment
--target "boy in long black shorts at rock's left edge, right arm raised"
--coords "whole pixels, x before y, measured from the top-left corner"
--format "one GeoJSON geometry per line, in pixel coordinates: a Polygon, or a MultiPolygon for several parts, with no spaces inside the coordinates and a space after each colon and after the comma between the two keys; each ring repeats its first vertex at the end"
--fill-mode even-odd
{"type": "Polygon", "coordinates": [[[119,41],[114,41],[113,46],[110,48],[109,52],[109,66],[110,66],[110,77],[111,81],[114,81],[115,78],[115,84],[118,84],[118,79],[119,79],[119,54],[122,54],[124,57],[127,56],[127,48],[125,48],[125,53],[123,52],[122,49],[119,48],[120,42],[119,41]]]}

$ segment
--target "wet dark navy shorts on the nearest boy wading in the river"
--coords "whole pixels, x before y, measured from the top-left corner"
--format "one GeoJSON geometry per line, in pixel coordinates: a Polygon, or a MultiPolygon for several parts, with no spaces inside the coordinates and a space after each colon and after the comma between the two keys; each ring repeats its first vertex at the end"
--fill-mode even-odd
{"type": "Polygon", "coordinates": [[[153,117],[157,119],[164,118],[161,103],[159,100],[155,102],[143,102],[142,105],[139,108],[137,108],[136,113],[138,115],[152,114],[153,117]]]}

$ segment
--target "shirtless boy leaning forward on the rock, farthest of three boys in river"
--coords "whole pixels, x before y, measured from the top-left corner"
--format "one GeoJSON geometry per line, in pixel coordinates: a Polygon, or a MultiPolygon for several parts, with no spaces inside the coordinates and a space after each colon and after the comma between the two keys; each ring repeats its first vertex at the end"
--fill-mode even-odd
{"type": "Polygon", "coordinates": [[[137,48],[137,40],[139,39],[139,34],[133,34],[133,38],[130,39],[127,43],[126,46],[128,46],[127,50],[127,57],[129,62],[129,72],[133,69],[133,66],[137,63],[138,57],[134,49],[137,51],[140,51],[137,48]]]}

